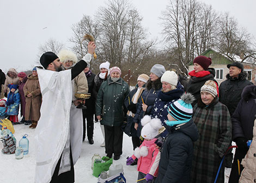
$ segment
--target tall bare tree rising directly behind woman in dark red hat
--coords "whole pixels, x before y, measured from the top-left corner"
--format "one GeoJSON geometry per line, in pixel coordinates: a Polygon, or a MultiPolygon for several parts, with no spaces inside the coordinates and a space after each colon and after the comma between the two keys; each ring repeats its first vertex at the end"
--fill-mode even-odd
{"type": "Polygon", "coordinates": [[[164,40],[178,54],[182,72],[194,58],[201,9],[196,0],[173,0],[162,13],[164,40]]]}

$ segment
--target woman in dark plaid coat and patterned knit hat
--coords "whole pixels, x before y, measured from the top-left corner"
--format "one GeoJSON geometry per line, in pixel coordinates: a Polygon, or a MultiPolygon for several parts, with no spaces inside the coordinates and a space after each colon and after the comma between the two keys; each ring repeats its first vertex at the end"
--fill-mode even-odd
{"type": "MultiPolygon", "coordinates": [[[[218,101],[217,85],[208,80],[200,89],[193,108],[193,121],[199,138],[194,142],[191,181],[214,182],[222,157],[231,141],[231,119],[227,106],[218,101]]],[[[217,182],[224,183],[224,166],[217,182]]]]}

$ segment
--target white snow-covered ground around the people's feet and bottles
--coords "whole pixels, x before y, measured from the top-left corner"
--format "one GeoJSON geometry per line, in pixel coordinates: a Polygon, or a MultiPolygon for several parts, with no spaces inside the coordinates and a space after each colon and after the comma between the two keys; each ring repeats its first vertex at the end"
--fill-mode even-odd
{"type": "MultiPolygon", "coordinates": [[[[83,183],[97,182],[97,178],[92,175],[91,162],[94,153],[99,153],[105,156],[105,148],[100,147],[103,142],[103,137],[100,130],[100,123],[94,123],[94,144],[91,145],[86,141],[82,144],[82,153],[80,159],[78,159],[75,165],[75,182],[83,183]]],[[[15,159],[15,154],[4,155],[0,153],[0,173],[1,183],[33,183],[35,174],[35,141],[34,141],[34,129],[29,129],[28,125],[19,124],[14,125],[15,138],[19,143],[24,134],[28,134],[29,140],[29,153],[21,160],[15,159]]],[[[0,143],[0,149],[2,149],[2,143],[0,143]]],[[[125,178],[127,183],[136,182],[137,170],[136,166],[126,166],[126,157],[131,156],[133,153],[131,138],[124,134],[123,141],[123,155],[121,155],[118,161],[113,163],[121,163],[124,168],[125,178]]],[[[230,168],[225,169],[225,182],[228,182],[228,176],[230,168]]]]}

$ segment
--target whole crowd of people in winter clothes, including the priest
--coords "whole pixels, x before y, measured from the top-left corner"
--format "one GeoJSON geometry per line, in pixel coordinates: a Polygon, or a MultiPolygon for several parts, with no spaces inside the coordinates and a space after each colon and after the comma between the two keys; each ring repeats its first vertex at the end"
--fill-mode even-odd
{"type": "Polygon", "coordinates": [[[80,61],[69,50],[46,52],[32,74],[10,68],[5,79],[0,71],[1,117],[36,130],[35,182],[74,182],[82,142],[87,136],[94,144],[94,121],[101,124],[101,147],[109,158],[120,159],[124,132],[131,137],[134,154],[126,165],[137,165],[139,182],[224,182],[224,167],[231,168],[229,182],[256,181],[256,87],[240,62],[227,65],[220,86],[206,56],[193,60],[187,81],[155,64],[149,75],[138,75],[130,91],[119,67],[103,62],[99,73],[90,70],[95,47],[89,42],[80,61]],[[77,99],[76,93],[90,98],[77,99]],[[86,109],[76,108],[81,103],[86,109]],[[50,127],[57,130],[46,130],[50,127]],[[232,141],[237,146],[233,164],[232,141]]]}

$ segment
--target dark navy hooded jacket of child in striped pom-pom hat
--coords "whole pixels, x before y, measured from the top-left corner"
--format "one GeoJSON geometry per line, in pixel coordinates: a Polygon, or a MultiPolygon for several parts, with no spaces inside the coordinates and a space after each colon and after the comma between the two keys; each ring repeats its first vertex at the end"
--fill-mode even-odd
{"type": "Polygon", "coordinates": [[[179,127],[166,127],[169,135],[163,143],[157,183],[190,182],[193,141],[198,139],[197,126],[191,119],[179,127]]]}

